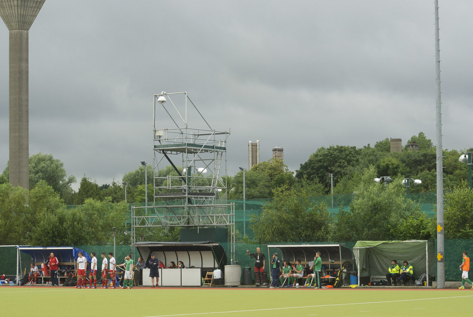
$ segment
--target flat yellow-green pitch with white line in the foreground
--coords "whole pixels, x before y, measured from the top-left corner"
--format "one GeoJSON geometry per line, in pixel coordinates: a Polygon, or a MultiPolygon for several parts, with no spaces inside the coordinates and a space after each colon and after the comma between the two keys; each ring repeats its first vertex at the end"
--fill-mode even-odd
{"type": "Polygon", "coordinates": [[[473,290],[0,287],[3,316],[459,316],[473,290]],[[348,315],[347,315],[348,314],[348,315]]]}

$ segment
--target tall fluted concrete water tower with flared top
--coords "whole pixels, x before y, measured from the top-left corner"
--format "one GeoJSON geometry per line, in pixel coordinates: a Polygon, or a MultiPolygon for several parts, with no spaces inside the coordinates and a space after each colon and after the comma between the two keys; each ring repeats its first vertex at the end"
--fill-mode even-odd
{"type": "Polygon", "coordinates": [[[0,0],[9,29],[9,182],[28,189],[28,30],[44,0],[0,0]]]}

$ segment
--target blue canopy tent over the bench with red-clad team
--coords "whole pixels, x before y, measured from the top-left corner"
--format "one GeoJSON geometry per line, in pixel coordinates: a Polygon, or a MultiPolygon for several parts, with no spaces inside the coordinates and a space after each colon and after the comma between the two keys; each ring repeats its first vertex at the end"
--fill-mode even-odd
{"type": "Polygon", "coordinates": [[[53,252],[54,256],[58,258],[60,265],[74,265],[74,268],[76,268],[79,252],[82,252],[88,263],[92,261],[92,257],[86,251],[78,249],[77,247],[18,247],[19,272],[17,267],[17,281],[20,280],[18,273],[21,273],[20,251],[31,256],[31,261],[28,260],[26,268],[31,262],[34,262],[35,264],[45,263],[48,260],[51,252],[53,252]]]}

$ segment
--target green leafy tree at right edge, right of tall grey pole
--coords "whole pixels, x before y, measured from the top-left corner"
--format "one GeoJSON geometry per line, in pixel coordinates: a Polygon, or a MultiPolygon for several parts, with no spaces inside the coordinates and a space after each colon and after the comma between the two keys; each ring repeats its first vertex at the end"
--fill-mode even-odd
{"type": "Polygon", "coordinates": [[[467,183],[444,194],[446,239],[473,238],[473,190],[467,183]]]}

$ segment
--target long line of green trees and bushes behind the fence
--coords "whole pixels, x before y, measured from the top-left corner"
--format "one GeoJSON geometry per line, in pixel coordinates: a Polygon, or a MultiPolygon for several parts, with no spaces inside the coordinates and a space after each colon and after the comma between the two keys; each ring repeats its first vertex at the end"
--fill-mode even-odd
{"type": "MultiPolygon", "coordinates": [[[[405,146],[402,152],[391,153],[390,141],[386,138],[377,141],[373,147],[370,144],[363,148],[340,145],[321,147],[310,155],[306,162],[301,163],[295,172],[290,171],[277,159],[263,161],[246,170],[245,198],[273,198],[272,202],[264,207],[261,217],[254,219],[251,224],[258,235],[257,239],[276,242],[289,241],[294,237],[333,241],[434,238],[435,228],[432,226],[436,222],[435,219],[426,217],[418,205],[405,200],[406,189],[401,185],[401,181],[405,177],[422,180],[422,184],[411,187],[411,193],[434,192],[435,147],[423,132],[412,136],[409,142],[417,142],[419,151],[408,151],[405,146]],[[311,205],[308,199],[310,196],[330,194],[329,174],[333,174],[333,194],[355,195],[350,211],[340,210],[335,217],[327,213],[326,206],[311,205]],[[388,186],[374,184],[373,178],[379,176],[391,176],[394,182],[388,186]],[[264,230],[261,227],[263,225],[266,226],[264,230]]],[[[450,233],[447,232],[448,226],[460,223],[457,218],[473,219],[472,206],[467,202],[467,199],[470,199],[470,202],[473,202],[473,199],[470,197],[469,188],[464,185],[467,166],[458,161],[465,151],[468,150],[443,151],[444,187],[447,193],[446,217],[448,212],[453,210],[455,213],[451,215],[453,217],[455,214],[456,217],[450,220],[450,223],[446,221],[446,238],[450,233],[451,237],[455,238],[473,238],[470,229],[473,223],[468,221],[464,225],[458,225],[458,228],[451,227],[448,229],[450,233]]],[[[151,182],[154,176],[177,176],[171,166],[160,169],[156,175],[152,167],[148,166],[145,170],[144,166],[140,166],[125,173],[121,181],[113,180],[110,184],[98,185],[92,178],[84,175],[76,192],[71,188],[76,178],[67,176],[63,163],[54,159],[51,154],[32,155],[29,158],[29,167],[31,190],[27,206],[26,201],[21,200],[21,197],[26,197],[25,190],[8,184],[8,163],[0,176],[0,224],[1,228],[5,228],[4,225],[10,228],[7,229],[9,235],[5,236],[8,238],[4,238],[4,241],[10,242],[3,242],[4,244],[18,244],[19,241],[35,245],[47,244],[47,241],[66,245],[84,245],[87,241],[109,243],[110,226],[116,227],[117,230],[120,228],[122,243],[128,243],[130,238],[124,234],[128,220],[125,218],[129,216],[124,184],[127,184],[127,203],[144,203],[145,173],[151,182]],[[42,203],[39,203],[40,201],[42,203]],[[79,206],[68,209],[67,205],[79,206]],[[18,215],[24,215],[24,220],[16,221],[18,215]],[[118,222],[111,220],[115,218],[118,222]],[[66,229],[52,230],[54,223],[60,223],[66,229]],[[85,225],[104,233],[99,235],[88,231],[84,234],[84,230],[74,231],[85,225]],[[105,231],[108,233],[105,234],[105,231]],[[48,236],[50,232],[55,235],[48,236]],[[40,237],[46,238],[42,240],[40,237]],[[53,237],[61,238],[54,240],[53,237]],[[70,240],[72,237],[74,241],[70,240]]],[[[243,199],[243,172],[222,177],[222,181],[227,184],[227,190],[222,194],[226,194],[229,199],[243,199]]],[[[148,186],[148,202],[152,202],[152,184],[148,186]]],[[[178,240],[178,231],[142,229],[137,233],[141,239],[167,241],[178,240]]]]}

